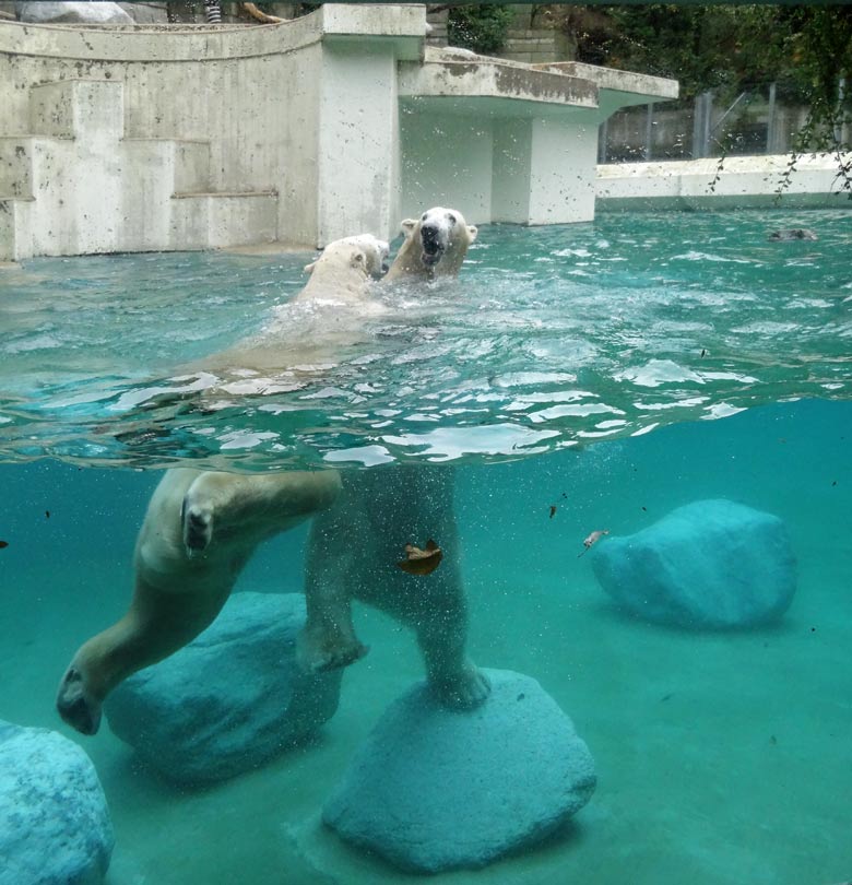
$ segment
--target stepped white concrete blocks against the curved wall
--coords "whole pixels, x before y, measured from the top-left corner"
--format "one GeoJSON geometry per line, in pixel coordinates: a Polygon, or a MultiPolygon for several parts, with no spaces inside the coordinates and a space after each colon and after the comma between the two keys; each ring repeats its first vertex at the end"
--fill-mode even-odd
{"type": "Polygon", "coordinates": [[[209,141],[125,138],[123,115],[118,81],[31,86],[33,134],[0,138],[0,260],[277,238],[276,191],[216,191],[209,141]]]}

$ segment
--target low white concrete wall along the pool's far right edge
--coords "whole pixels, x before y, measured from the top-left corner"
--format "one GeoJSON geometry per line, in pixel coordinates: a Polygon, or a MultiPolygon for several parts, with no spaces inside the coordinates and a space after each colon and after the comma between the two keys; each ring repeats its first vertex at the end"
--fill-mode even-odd
{"type": "Polygon", "coordinates": [[[841,192],[839,163],[852,154],[805,154],[780,191],[791,157],[729,156],[667,163],[613,163],[597,167],[597,210],[748,209],[795,206],[852,209],[841,192]]]}

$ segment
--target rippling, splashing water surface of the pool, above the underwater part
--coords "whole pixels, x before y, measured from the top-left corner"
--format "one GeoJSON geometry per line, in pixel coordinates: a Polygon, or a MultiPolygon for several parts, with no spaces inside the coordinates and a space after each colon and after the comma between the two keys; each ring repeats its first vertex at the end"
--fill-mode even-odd
{"type": "Polygon", "coordinates": [[[0,459],[506,460],[845,399],[849,231],[843,210],[484,227],[458,280],[378,284],[384,311],[309,365],[330,323],[287,305],[306,256],[29,261],[0,276],[0,459]],[[817,241],[767,240],[804,223],[817,241]],[[193,368],[271,324],[274,371],[193,368]]]}

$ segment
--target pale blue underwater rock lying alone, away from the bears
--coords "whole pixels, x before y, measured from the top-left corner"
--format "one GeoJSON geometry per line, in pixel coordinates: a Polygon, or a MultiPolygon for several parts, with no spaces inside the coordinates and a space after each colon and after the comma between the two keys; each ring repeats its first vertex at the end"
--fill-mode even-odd
{"type": "Polygon", "coordinates": [[[777,621],[796,589],[786,528],[734,502],[699,500],[592,551],[601,587],[631,614],[693,629],[777,621]]]}

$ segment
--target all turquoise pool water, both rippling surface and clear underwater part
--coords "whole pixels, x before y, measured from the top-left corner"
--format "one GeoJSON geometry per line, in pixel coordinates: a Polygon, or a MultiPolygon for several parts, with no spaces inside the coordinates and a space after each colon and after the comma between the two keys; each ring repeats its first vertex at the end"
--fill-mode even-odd
{"type": "MultiPolygon", "coordinates": [[[[214,410],[153,399],[141,414],[186,384],[171,367],[261,328],[298,288],[304,257],[3,272],[0,718],[57,729],[93,758],[116,825],[107,882],[415,880],[319,823],[377,719],[422,676],[412,636],[366,606],[356,622],[371,651],[346,671],[320,739],[212,788],[169,786],[108,728],[80,738],[52,709],[73,650],[127,605],[158,479],[138,468],[191,457],[255,470],[341,451],[354,465],[458,464],[472,653],[535,677],[595,758],[596,791],[567,830],[437,882],[848,878],[851,232],[841,212],[484,228],[458,283],[426,308],[411,290],[387,294],[393,321],[307,387],[242,405],[216,390],[214,410]],[[766,241],[792,226],[820,239],[766,241]],[[246,445],[225,447],[235,439],[246,445]],[[777,624],[651,625],[602,591],[602,547],[578,558],[593,529],[626,535],[720,497],[786,524],[797,590],[777,624]]],[[[299,591],[305,543],[301,528],[267,544],[237,589],[299,591]]]]}

